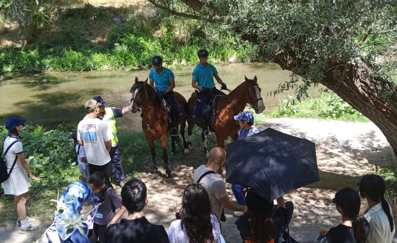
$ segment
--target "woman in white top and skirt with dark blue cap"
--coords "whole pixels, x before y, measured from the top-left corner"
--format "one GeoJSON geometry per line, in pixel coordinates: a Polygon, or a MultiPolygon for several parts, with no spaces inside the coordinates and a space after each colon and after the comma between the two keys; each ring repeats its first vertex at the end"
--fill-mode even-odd
{"type": "Polygon", "coordinates": [[[8,136],[4,140],[3,154],[7,151],[6,166],[10,173],[11,168],[15,162],[14,169],[11,171],[10,177],[2,183],[4,194],[14,195],[14,205],[17,210],[18,219],[17,225],[20,226],[20,233],[29,231],[36,231],[39,227],[32,225],[36,220],[26,216],[26,193],[29,191],[29,178],[40,181],[29,170],[29,165],[25,159],[22,149],[22,142],[18,140],[19,134],[23,131],[26,119],[19,119],[18,117],[10,117],[6,121],[6,128],[8,129],[8,136]],[[12,144],[16,141],[14,144],[12,144]],[[11,145],[12,144],[12,145],[11,145]],[[10,146],[11,145],[11,146],[10,146]]]}

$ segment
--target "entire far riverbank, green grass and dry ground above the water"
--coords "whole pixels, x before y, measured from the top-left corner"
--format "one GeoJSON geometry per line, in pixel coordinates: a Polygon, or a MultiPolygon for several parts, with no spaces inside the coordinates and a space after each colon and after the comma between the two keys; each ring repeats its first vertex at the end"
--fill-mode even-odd
{"type": "MultiPolygon", "coordinates": [[[[93,1],[94,2],[94,1],[93,1]]],[[[129,5],[50,5],[48,23],[34,40],[21,39],[18,25],[6,19],[0,28],[0,73],[138,70],[155,55],[171,68],[193,65],[206,48],[209,62],[264,61],[258,49],[217,25],[170,16],[137,1],[129,5]]],[[[1,25],[1,22],[0,22],[1,25]]]]}

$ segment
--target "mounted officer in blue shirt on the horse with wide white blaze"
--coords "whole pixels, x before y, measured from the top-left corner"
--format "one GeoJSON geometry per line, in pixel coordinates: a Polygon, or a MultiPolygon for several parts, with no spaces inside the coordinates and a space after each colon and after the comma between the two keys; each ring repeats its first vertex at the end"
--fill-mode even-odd
{"type": "Polygon", "coordinates": [[[214,95],[223,95],[215,88],[214,77],[222,86],[222,90],[226,90],[227,87],[219,77],[215,66],[207,63],[208,51],[206,49],[199,50],[197,56],[200,62],[193,69],[191,86],[200,92],[202,128],[204,136],[208,137],[210,134],[207,121],[208,103],[214,95]]]}

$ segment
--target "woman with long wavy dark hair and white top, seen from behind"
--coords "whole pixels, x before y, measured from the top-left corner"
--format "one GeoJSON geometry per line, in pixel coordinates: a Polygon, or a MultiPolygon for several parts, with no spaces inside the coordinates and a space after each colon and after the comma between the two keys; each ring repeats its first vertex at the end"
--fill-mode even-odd
{"type": "Polygon", "coordinates": [[[168,230],[170,243],[213,243],[221,234],[217,216],[211,213],[211,201],[200,184],[190,184],[182,197],[179,217],[168,230]]]}

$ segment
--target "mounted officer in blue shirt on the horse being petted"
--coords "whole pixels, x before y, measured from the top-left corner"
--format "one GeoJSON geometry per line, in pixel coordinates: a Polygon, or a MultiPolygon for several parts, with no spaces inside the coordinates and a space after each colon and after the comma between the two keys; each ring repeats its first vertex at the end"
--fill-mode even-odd
{"type": "Polygon", "coordinates": [[[178,105],[175,101],[173,92],[175,88],[174,73],[171,69],[163,67],[163,58],[161,58],[161,56],[154,56],[152,58],[152,64],[154,68],[149,72],[150,85],[157,91],[157,94],[164,98],[171,106],[171,136],[178,136],[178,105]]]}

